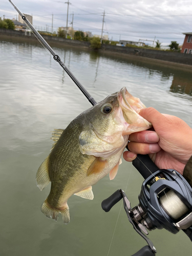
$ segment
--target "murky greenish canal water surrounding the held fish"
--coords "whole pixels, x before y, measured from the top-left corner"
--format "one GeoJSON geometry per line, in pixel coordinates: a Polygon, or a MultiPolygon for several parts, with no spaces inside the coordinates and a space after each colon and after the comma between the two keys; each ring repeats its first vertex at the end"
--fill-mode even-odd
{"type": "MultiPolygon", "coordinates": [[[[94,51],[54,47],[55,52],[95,98],[126,87],[146,106],[176,115],[192,127],[192,72],[94,51]]],[[[119,188],[132,207],[143,178],[123,161],[116,178],[93,186],[94,200],[72,196],[71,222],[40,211],[50,185],[39,191],[36,171],[50,153],[53,129],[65,127],[90,103],[38,42],[0,41],[0,254],[3,256],[132,255],[146,245],[129,223],[121,202],[108,213],[101,201],[119,188]]],[[[153,230],[148,237],[157,255],[190,255],[183,232],[153,230]]]]}

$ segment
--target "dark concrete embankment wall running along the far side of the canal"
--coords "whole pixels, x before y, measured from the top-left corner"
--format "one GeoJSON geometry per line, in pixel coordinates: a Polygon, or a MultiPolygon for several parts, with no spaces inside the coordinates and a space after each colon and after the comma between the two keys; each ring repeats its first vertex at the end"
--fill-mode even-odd
{"type": "MultiPolygon", "coordinates": [[[[59,45],[59,46],[71,46],[78,48],[87,48],[90,49],[90,42],[86,41],[78,41],[65,39],[55,36],[42,35],[44,39],[50,44],[51,47],[59,45]]],[[[27,33],[22,31],[8,30],[8,29],[0,29],[0,39],[3,38],[12,38],[12,39],[22,39],[24,41],[36,41],[37,39],[31,33],[27,33]]],[[[168,51],[158,51],[158,50],[149,50],[142,48],[133,48],[133,47],[120,47],[120,46],[112,46],[112,45],[101,45],[101,49],[98,51],[106,52],[109,54],[117,54],[123,56],[130,56],[135,58],[146,58],[151,59],[153,61],[159,62],[172,62],[172,65],[176,66],[192,66],[192,55],[191,54],[183,54],[178,52],[168,52],[168,51]]]]}

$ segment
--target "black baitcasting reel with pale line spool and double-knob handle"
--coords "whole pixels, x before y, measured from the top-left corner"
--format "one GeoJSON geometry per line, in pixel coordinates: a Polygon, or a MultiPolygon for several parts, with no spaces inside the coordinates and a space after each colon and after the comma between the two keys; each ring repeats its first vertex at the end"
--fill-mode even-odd
{"type": "Polygon", "coordinates": [[[108,212],[123,199],[129,221],[148,243],[132,256],[155,255],[152,241],[145,236],[147,229],[165,228],[174,234],[182,229],[192,241],[192,189],[188,182],[174,169],[159,170],[148,156],[138,155],[133,165],[145,178],[139,204],[132,208],[122,189],[101,204],[102,209],[108,212]]]}

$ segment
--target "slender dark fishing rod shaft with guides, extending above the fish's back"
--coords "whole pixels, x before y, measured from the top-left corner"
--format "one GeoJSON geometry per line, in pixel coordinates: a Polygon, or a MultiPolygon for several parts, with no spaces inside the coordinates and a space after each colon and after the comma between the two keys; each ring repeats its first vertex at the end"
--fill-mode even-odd
{"type": "Polygon", "coordinates": [[[64,62],[61,61],[60,57],[53,51],[53,49],[48,45],[46,40],[39,34],[39,32],[33,27],[33,25],[29,22],[29,20],[26,18],[26,16],[19,11],[19,9],[13,4],[11,0],[8,0],[11,5],[14,7],[14,9],[18,12],[18,14],[22,17],[26,25],[31,29],[35,37],[39,40],[39,42],[42,44],[42,46],[45,47],[45,49],[53,56],[53,59],[60,65],[60,67],[68,74],[70,79],[75,83],[75,85],[78,87],[78,89],[82,92],[84,96],[89,100],[89,102],[92,105],[95,105],[97,102],[94,100],[93,97],[87,92],[86,89],[82,86],[82,84],[77,80],[77,78],[72,74],[72,72],[67,68],[64,62]]]}

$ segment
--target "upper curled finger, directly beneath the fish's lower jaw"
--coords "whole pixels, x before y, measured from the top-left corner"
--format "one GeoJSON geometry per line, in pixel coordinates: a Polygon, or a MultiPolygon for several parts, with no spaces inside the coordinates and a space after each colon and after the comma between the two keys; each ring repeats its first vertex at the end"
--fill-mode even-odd
{"type": "Polygon", "coordinates": [[[159,135],[153,131],[143,131],[130,134],[129,140],[140,143],[157,143],[159,135]]]}

